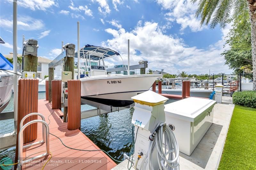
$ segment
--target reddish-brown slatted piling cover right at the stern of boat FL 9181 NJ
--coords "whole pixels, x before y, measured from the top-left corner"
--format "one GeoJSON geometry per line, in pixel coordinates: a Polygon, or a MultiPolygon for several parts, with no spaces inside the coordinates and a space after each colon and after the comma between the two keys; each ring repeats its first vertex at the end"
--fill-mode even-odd
{"type": "Polygon", "coordinates": [[[68,80],[68,130],[81,127],[81,81],[68,80]]]}

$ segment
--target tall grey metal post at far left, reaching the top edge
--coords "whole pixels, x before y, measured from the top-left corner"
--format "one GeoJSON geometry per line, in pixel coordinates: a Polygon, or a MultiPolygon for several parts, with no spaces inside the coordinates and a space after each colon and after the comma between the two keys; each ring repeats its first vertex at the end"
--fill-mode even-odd
{"type": "Polygon", "coordinates": [[[17,134],[18,120],[18,57],[17,57],[17,0],[13,0],[13,104],[14,104],[14,132],[17,134]]]}

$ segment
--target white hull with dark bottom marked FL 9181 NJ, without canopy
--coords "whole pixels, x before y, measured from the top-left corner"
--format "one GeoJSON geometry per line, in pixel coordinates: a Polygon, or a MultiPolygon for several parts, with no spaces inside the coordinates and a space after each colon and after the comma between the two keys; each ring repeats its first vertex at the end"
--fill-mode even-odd
{"type": "Polygon", "coordinates": [[[81,79],[81,97],[97,103],[125,107],[131,97],[149,90],[162,75],[118,75],[81,79]]]}

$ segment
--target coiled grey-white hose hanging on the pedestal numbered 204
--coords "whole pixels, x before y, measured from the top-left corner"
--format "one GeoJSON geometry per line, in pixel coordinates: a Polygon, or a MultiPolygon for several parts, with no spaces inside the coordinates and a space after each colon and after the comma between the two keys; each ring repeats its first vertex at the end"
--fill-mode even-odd
{"type": "MultiPolygon", "coordinates": [[[[164,122],[159,122],[157,126],[161,126],[156,133],[156,137],[153,141],[149,142],[148,152],[142,160],[142,170],[153,170],[152,153],[156,149],[157,162],[160,170],[176,170],[179,169],[179,146],[174,133],[169,126],[166,126],[164,122]],[[165,126],[165,130],[163,128],[165,126]],[[163,134],[164,134],[164,150],[163,150],[163,134]],[[168,156],[168,158],[167,158],[168,156]],[[147,166],[148,165],[148,166],[147,166]]],[[[156,127],[157,127],[156,126],[156,127]]]]}

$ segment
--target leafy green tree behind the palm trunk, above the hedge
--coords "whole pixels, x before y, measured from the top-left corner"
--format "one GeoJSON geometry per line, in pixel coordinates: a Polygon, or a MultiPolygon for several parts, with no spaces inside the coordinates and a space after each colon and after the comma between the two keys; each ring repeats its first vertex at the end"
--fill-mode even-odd
{"type": "Polygon", "coordinates": [[[226,44],[230,47],[221,55],[226,63],[235,73],[242,73],[243,70],[252,70],[252,44],[251,44],[251,24],[247,20],[241,22],[240,18],[234,20],[227,37],[226,44]]]}

